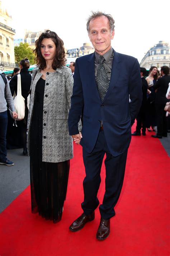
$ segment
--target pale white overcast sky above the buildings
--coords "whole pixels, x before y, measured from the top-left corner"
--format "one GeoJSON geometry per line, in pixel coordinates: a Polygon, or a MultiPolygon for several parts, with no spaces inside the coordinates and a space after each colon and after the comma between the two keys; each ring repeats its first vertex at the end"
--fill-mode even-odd
{"type": "Polygon", "coordinates": [[[24,29],[32,32],[50,29],[64,41],[66,49],[80,48],[90,42],[86,19],[91,10],[109,13],[115,20],[112,47],[115,51],[136,57],[159,41],[170,43],[170,1],[151,0],[2,0],[13,18],[14,38],[24,37],[24,29]]]}

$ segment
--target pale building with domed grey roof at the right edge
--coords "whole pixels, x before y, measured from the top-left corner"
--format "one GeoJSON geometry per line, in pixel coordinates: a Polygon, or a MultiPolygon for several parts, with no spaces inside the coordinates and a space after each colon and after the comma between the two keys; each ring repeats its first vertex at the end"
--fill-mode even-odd
{"type": "Polygon", "coordinates": [[[155,66],[160,69],[162,66],[170,67],[170,45],[164,41],[159,41],[154,45],[143,57],[141,67],[150,69],[151,66],[155,66]]]}

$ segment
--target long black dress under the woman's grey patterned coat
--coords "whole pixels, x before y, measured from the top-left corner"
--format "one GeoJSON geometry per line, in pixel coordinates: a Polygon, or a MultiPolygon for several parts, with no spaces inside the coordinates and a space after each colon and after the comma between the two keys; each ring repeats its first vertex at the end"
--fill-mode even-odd
{"type": "Polygon", "coordinates": [[[60,163],[42,162],[43,98],[45,80],[36,85],[30,127],[30,186],[32,213],[54,223],[61,220],[66,198],[70,160],[60,163]]]}

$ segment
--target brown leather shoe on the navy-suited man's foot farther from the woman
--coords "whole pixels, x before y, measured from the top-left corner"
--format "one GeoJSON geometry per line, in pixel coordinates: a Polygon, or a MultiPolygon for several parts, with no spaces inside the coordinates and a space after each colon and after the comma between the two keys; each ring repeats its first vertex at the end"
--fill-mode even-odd
{"type": "Polygon", "coordinates": [[[100,220],[100,225],[96,234],[98,240],[106,239],[110,234],[110,219],[109,220],[100,220]]]}

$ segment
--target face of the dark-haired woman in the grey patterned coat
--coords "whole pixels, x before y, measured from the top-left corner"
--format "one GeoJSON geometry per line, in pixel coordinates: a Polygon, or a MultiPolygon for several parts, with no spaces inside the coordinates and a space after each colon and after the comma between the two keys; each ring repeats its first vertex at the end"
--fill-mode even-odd
{"type": "Polygon", "coordinates": [[[41,54],[46,61],[54,59],[56,54],[56,45],[51,38],[44,38],[41,42],[41,54]]]}

